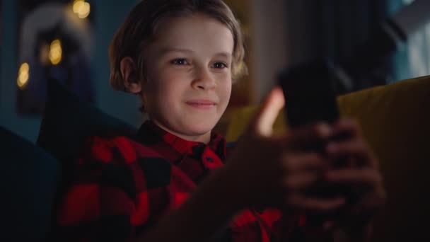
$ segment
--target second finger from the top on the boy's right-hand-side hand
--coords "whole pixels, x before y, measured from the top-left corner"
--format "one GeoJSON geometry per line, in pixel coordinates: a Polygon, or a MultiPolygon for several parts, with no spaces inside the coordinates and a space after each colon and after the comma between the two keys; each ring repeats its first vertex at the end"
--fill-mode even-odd
{"type": "Polygon", "coordinates": [[[378,161],[362,139],[349,139],[344,142],[330,142],[325,152],[331,159],[354,158],[358,166],[377,167],[378,161]]]}

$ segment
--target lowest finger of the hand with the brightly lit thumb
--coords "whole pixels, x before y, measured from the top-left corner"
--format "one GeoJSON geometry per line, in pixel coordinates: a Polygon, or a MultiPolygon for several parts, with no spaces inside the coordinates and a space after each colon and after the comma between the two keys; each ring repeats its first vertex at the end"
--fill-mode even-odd
{"type": "Polygon", "coordinates": [[[299,193],[289,196],[288,204],[296,209],[303,209],[313,212],[327,212],[338,209],[345,204],[344,197],[335,197],[330,199],[318,199],[307,197],[299,193]]]}

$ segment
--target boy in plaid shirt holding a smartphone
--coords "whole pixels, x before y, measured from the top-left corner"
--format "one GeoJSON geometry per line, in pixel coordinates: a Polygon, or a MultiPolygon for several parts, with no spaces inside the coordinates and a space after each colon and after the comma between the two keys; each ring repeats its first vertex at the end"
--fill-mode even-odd
{"type": "Polygon", "coordinates": [[[61,241],[362,241],[383,202],[376,159],[341,120],[272,136],[284,106],[279,88],[226,158],[211,132],[243,74],[243,38],[221,0],[144,0],[115,35],[111,83],[149,115],[135,139],[92,137],[59,211],[61,241]],[[325,155],[310,142],[338,134],[325,155]],[[351,166],[335,170],[343,158],[351,166]],[[320,181],[347,195],[306,192],[320,181]],[[360,189],[358,189],[360,188],[360,189]],[[366,189],[364,189],[366,188],[366,189]],[[304,214],[325,219],[312,223],[304,214]],[[330,214],[337,214],[336,216],[330,214]]]}

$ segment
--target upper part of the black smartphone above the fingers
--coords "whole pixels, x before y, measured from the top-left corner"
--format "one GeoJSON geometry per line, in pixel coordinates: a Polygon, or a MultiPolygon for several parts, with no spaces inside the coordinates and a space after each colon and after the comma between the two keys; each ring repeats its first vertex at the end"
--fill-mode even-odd
{"type": "Polygon", "coordinates": [[[338,120],[337,81],[335,69],[328,62],[300,64],[282,72],[279,85],[286,99],[289,127],[338,120]]]}

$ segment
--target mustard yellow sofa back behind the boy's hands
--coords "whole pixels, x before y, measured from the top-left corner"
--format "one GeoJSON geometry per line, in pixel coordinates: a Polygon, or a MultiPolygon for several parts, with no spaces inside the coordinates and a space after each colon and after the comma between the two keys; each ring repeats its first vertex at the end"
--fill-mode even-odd
{"type": "MultiPolygon", "coordinates": [[[[376,241],[430,241],[426,228],[430,219],[430,76],[349,93],[337,100],[342,117],[359,121],[380,160],[388,204],[376,219],[376,241]]],[[[232,118],[228,141],[237,140],[257,108],[245,108],[232,118]]],[[[281,112],[274,131],[285,126],[281,112]]]]}

